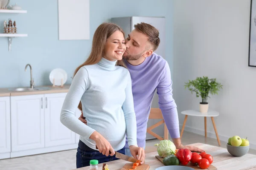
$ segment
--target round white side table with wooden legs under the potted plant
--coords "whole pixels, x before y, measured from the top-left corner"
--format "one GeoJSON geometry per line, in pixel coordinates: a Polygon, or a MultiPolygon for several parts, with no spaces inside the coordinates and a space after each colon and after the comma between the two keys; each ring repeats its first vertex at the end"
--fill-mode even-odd
{"type": "Polygon", "coordinates": [[[207,117],[211,117],[212,125],[213,125],[213,128],[215,130],[215,134],[216,134],[216,137],[217,137],[217,140],[218,140],[218,144],[219,144],[219,146],[221,146],[221,142],[220,142],[220,139],[218,137],[217,128],[216,128],[216,125],[215,125],[215,122],[214,122],[214,117],[219,115],[219,113],[217,111],[208,110],[207,113],[201,113],[200,111],[187,110],[187,111],[182,111],[181,114],[185,115],[185,119],[184,119],[182,130],[181,130],[181,133],[180,133],[180,139],[182,137],[182,134],[183,134],[183,131],[184,131],[184,128],[185,128],[185,125],[186,125],[186,120],[187,120],[188,116],[204,117],[204,136],[205,136],[205,138],[207,138],[207,117]]]}

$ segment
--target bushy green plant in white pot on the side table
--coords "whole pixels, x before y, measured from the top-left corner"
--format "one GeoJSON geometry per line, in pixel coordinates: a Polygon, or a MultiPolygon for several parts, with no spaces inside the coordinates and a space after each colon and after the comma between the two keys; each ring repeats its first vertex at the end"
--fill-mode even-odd
{"type": "Polygon", "coordinates": [[[202,102],[200,102],[199,105],[200,112],[207,113],[209,108],[207,102],[209,94],[218,94],[218,91],[222,89],[222,85],[220,82],[217,82],[216,79],[209,79],[207,76],[204,76],[185,82],[185,89],[186,88],[188,88],[191,93],[195,92],[196,97],[201,96],[202,102]]]}

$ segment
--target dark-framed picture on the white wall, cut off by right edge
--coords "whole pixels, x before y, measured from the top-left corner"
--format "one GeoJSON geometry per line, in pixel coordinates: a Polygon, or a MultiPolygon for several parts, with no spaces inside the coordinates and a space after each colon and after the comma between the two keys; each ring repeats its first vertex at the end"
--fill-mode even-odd
{"type": "Polygon", "coordinates": [[[248,66],[256,67],[256,0],[251,0],[249,35],[250,37],[248,66]]]}

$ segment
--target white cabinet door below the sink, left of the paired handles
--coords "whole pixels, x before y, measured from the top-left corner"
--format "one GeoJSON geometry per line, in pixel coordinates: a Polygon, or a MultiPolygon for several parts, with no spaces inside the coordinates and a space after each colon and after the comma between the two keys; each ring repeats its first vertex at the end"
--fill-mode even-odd
{"type": "Polygon", "coordinates": [[[44,147],[44,94],[11,96],[12,152],[44,147]]]}

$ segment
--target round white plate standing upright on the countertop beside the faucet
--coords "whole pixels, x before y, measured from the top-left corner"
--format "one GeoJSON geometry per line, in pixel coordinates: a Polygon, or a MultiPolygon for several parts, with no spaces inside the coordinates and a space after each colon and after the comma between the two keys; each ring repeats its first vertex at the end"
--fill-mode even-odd
{"type": "Polygon", "coordinates": [[[61,68],[55,68],[51,71],[49,79],[52,84],[54,79],[54,85],[61,85],[61,79],[63,79],[63,84],[65,84],[67,82],[67,73],[61,68]]]}

